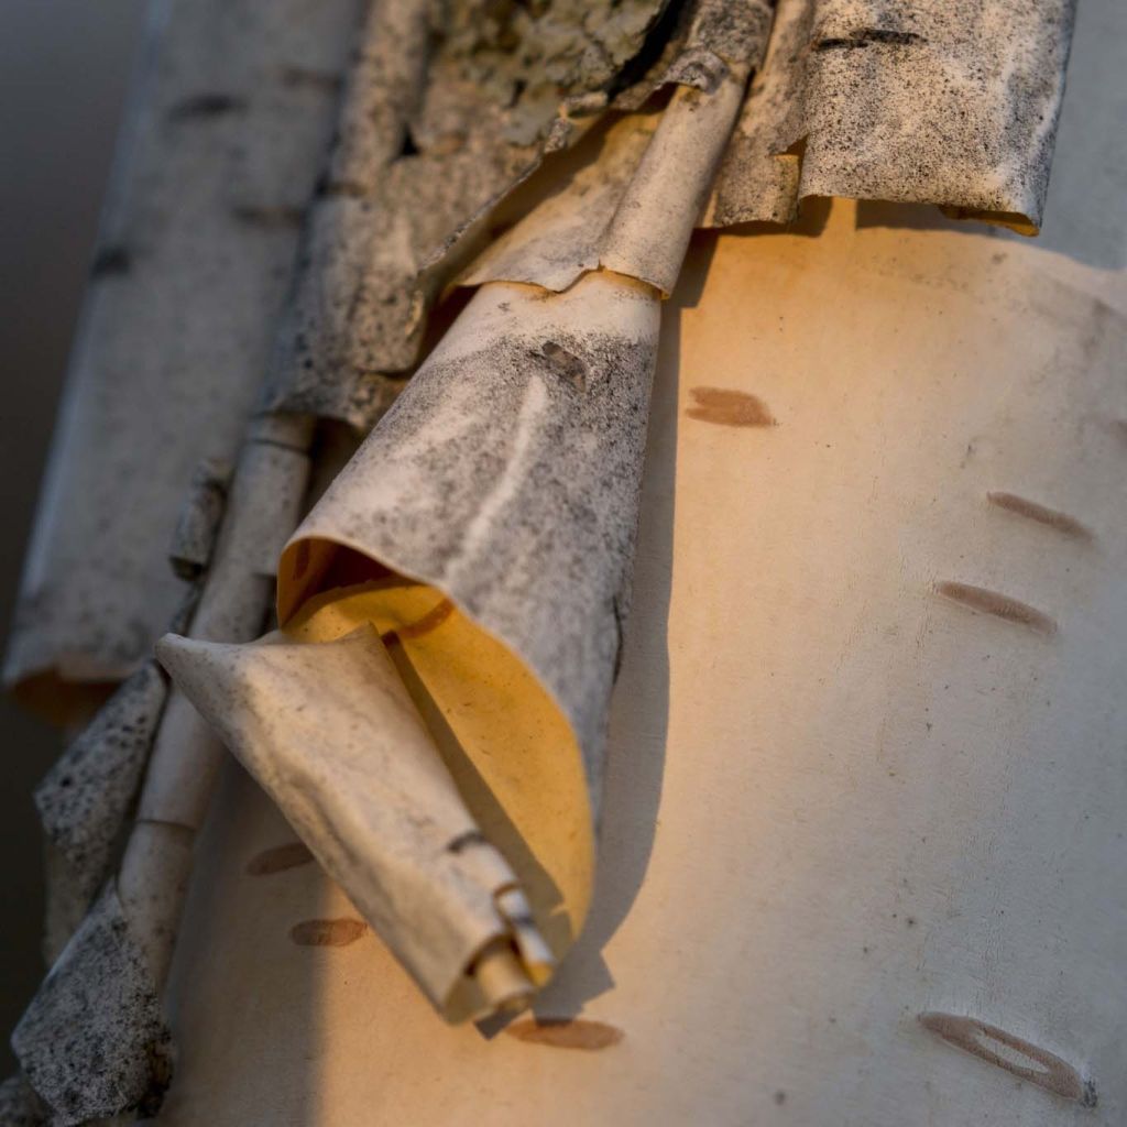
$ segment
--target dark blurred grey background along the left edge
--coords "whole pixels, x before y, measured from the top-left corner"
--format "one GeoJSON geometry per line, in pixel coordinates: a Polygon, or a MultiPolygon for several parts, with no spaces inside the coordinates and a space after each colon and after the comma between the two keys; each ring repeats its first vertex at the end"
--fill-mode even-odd
{"type": "MultiPolygon", "coordinates": [[[[144,0],[0,0],[0,645],[86,284],[144,0]]],[[[43,973],[30,791],[59,737],[0,700],[0,1079],[43,973]]]]}

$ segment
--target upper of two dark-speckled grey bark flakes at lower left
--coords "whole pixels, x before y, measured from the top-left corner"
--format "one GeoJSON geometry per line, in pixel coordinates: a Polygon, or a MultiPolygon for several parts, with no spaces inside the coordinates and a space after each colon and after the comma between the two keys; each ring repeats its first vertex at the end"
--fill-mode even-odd
{"type": "Polygon", "coordinates": [[[35,789],[35,805],[55,853],[48,887],[48,951],[61,950],[109,876],[167,689],[153,662],[142,665],[35,789]]]}

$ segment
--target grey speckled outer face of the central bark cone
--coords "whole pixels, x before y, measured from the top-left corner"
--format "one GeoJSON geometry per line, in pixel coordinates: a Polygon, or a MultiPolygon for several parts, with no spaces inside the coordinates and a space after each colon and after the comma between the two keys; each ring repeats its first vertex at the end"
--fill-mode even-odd
{"type": "Polygon", "coordinates": [[[433,584],[516,653],[575,728],[596,809],[658,318],[655,291],[602,274],[485,286],[295,535],[433,584]]]}

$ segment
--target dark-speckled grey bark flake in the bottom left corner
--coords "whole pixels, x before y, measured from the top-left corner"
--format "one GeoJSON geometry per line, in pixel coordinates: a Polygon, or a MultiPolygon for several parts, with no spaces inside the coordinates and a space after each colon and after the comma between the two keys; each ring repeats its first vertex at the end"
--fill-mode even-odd
{"type": "Polygon", "coordinates": [[[113,885],[44,979],[11,1038],[52,1127],[159,1102],[171,1036],[113,885]]]}

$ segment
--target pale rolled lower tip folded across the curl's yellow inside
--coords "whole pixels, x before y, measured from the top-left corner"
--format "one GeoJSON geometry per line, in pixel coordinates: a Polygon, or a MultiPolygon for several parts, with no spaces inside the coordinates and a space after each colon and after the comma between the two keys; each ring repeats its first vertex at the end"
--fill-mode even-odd
{"type": "MultiPolygon", "coordinates": [[[[473,971],[489,944],[515,949],[499,898],[516,877],[371,627],[308,646],[278,633],[249,646],[170,635],[158,653],[443,1012],[512,1000],[489,996],[473,971]]],[[[518,995],[540,977],[536,962],[512,968],[518,995]]]]}

